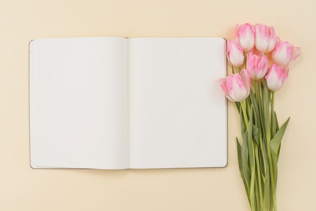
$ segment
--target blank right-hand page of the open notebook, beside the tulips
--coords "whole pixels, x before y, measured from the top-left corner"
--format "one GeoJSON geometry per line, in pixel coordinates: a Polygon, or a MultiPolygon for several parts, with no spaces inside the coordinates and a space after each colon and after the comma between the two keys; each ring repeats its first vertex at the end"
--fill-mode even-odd
{"type": "Polygon", "coordinates": [[[128,40],[129,168],[227,165],[223,38],[128,40]]]}

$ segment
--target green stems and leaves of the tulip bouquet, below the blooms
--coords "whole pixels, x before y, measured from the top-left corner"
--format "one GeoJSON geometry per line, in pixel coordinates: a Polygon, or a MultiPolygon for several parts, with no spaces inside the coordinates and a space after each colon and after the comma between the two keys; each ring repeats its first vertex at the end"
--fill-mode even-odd
{"type": "Polygon", "coordinates": [[[255,92],[251,89],[246,99],[237,102],[237,108],[242,133],[242,143],[236,138],[238,163],[251,210],[277,211],[278,158],[289,119],[279,129],[274,92],[268,90],[266,79],[255,81],[255,92]]]}

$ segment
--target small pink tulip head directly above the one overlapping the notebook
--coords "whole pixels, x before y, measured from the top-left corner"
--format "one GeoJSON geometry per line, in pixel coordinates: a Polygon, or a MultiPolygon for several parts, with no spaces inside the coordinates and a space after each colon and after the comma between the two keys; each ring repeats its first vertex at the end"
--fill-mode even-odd
{"type": "Polygon", "coordinates": [[[231,65],[240,67],[244,62],[242,48],[235,40],[227,41],[227,59],[231,65]]]}

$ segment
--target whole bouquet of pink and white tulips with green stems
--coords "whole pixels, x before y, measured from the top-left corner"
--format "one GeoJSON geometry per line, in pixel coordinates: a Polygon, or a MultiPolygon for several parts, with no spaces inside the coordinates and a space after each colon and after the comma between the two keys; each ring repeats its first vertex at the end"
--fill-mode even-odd
{"type": "Polygon", "coordinates": [[[300,47],[276,37],[272,26],[261,24],[237,24],[235,40],[227,42],[233,74],[221,78],[220,85],[240,114],[238,164],[252,211],[277,211],[278,160],[290,118],[279,127],[274,96],[300,52],[300,47]]]}

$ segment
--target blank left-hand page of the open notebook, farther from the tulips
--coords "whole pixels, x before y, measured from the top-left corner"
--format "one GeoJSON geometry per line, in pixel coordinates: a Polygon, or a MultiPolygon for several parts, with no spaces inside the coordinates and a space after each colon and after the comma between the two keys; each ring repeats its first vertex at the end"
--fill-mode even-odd
{"type": "Polygon", "coordinates": [[[30,42],[33,168],[125,169],[127,39],[30,42]]]}

